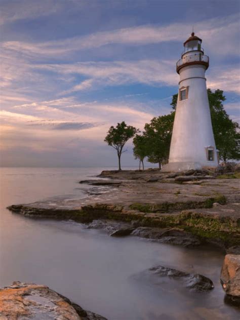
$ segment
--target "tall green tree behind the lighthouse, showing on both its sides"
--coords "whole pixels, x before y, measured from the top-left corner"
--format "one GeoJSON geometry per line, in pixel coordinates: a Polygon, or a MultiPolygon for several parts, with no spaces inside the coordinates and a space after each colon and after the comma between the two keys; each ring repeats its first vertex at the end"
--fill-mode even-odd
{"type": "MultiPolygon", "coordinates": [[[[224,110],[223,101],[226,100],[222,90],[208,89],[208,99],[213,126],[216,148],[219,150],[219,159],[226,162],[229,159],[239,160],[239,125],[232,121],[224,110]]],[[[176,109],[178,95],[172,97],[173,109],[176,109]]]]}

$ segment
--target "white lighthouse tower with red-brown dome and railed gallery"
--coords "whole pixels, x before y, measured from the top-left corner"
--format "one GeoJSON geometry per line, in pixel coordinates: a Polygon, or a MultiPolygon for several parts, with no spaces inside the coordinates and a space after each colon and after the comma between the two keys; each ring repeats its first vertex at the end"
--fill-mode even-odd
{"type": "Polygon", "coordinates": [[[218,165],[205,78],[209,57],[201,45],[202,40],[192,32],[177,62],[178,100],[169,163],[163,171],[218,165]]]}

